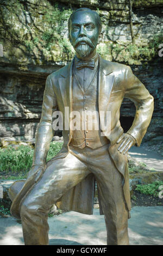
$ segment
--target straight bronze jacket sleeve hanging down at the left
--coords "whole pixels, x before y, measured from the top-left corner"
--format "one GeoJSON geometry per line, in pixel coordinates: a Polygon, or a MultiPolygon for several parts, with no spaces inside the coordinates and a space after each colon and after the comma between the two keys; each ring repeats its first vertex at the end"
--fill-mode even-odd
{"type": "Polygon", "coordinates": [[[52,87],[51,78],[48,76],[43,94],[42,114],[36,132],[36,143],[33,164],[45,166],[49,145],[53,138],[52,114],[58,109],[56,96],[52,87]]]}

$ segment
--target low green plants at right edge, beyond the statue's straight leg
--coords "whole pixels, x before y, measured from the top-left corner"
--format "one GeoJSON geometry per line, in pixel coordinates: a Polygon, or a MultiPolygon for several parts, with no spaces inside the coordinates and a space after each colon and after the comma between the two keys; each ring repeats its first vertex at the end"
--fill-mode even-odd
{"type": "Polygon", "coordinates": [[[163,181],[155,181],[147,185],[136,185],[135,190],[142,194],[152,195],[154,197],[159,196],[159,186],[163,185],[163,181]]]}

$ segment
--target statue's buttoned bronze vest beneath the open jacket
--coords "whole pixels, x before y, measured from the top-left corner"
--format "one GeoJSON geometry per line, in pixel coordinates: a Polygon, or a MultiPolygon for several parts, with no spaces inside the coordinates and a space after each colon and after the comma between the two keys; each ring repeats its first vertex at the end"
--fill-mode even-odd
{"type": "MultiPolygon", "coordinates": [[[[91,72],[91,70],[90,70],[91,72]]],[[[109,139],[102,136],[99,127],[98,111],[98,68],[90,84],[84,88],[79,83],[77,73],[72,74],[72,139],[70,145],[92,149],[109,144],[109,139]]]]}

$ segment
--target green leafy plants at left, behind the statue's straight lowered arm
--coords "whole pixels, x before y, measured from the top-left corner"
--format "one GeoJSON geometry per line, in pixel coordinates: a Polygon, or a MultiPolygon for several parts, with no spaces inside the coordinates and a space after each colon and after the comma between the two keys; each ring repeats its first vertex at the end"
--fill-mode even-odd
{"type": "MultiPolygon", "coordinates": [[[[50,144],[47,161],[57,155],[62,144],[60,142],[50,144]]],[[[25,179],[27,172],[32,167],[33,154],[34,149],[24,145],[20,145],[17,149],[11,146],[0,149],[0,174],[1,172],[9,173],[10,176],[5,179],[25,179]]]]}

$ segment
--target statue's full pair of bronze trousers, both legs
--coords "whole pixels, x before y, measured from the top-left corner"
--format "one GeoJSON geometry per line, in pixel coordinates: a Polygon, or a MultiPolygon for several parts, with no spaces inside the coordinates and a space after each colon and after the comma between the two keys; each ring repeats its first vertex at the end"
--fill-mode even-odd
{"type": "Polygon", "coordinates": [[[48,245],[48,212],[61,196],[93,173],[104,212],[107,245],[128,245],[128,211],[122,175],[112,162],[109,145],[97,149],[70,146],[64,159],[47,164],[42,178],[20,204],[25,245],[48,245]]]}

